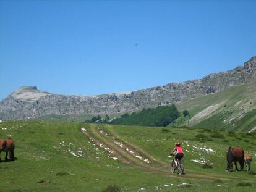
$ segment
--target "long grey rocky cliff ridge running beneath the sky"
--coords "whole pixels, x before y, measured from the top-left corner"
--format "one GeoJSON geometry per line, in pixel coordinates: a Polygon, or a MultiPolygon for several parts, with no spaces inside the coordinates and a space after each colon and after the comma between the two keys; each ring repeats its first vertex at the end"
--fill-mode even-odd
{"type": "Polygon", "coordinates": [[[228,72],[200,80],[102,96],[68,96],[23,86],[0,102],[0,120],[34,119],[47,114],[113,114],[181,102],[256,79],[256,57],[228,72]]]}

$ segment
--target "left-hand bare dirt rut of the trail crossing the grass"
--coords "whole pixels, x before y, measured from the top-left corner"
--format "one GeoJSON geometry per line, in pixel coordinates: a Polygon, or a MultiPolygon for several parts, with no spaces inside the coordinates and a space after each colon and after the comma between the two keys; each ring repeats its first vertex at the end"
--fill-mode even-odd
{"type": "MultiPolygon", "coordinates": [[[[167,170],[166,170],[166,166],[164,166],[162,169],[160,169],[159,167],[155,167],[155,166],[149,166],[149,165],[145,165],[145,163],[143,164],[143,162],[138,161],[138,159],[134,159],[133,156],[131,156],[127,151],[124,151],[124,149],[117,147],[116,144],[113,144],[113,141],[109,141],[105,135],[100,135],[100,132],[97,131],[97,127],[95,125],[91,125],[91,131],[93,133],[93,135],[101,138],[101,140],[103,141],[103,143],[107,143],[108,146],[111,146],[111,148],[114,148],[119,155],[121,156],[125,156],[126,158],[128,158],[130,161],[134,162],[135,167],[138,167],[140,169],[143,170],[147,170],[147,172],[150,173],[158,173],[160,175],[164,175],[164,176],[168,176],[168,177],[173,177],[173,178],[180,178],[180,179],[192,179],[192,180],[205,180],[208,182],[213,182],[213,180],[218,179],[219,177],[206,177],[205,175],[199,175],[199,174],[193,174],[193,175],[182,175],[182,176],[178,176],[178,175],[172,175],[170,174],[170,170],[169,170],[169,166],[167,164],[167,170]],[[184,178],[182,178],[184,177],[184,178]]],[[[157,162],[157,161],[156,161],[157,162]]],[[[154,165],[154,164],[151,164],[154,165]]],[[[155,164],[156,165],[156,164],[155,164]]],[[[157,164],[160,165],[160,164],[157,164]]],[[[228,178],[222,178],[222,180],[229,180],[228,178]]]]}

